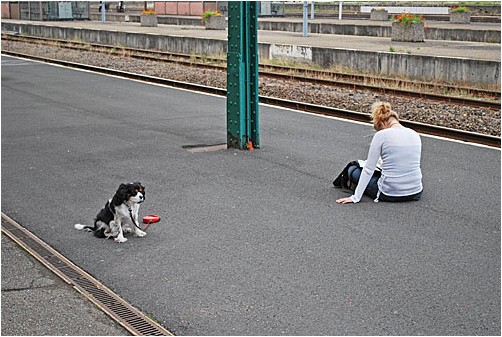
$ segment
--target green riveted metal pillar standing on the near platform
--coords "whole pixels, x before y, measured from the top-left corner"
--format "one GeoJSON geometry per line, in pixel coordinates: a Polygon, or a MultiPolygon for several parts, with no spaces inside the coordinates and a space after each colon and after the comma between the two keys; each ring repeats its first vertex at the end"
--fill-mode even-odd
{"type": "Polygon", "coordinates": [[[227,145],[260,147],[258,2],[228,2],[227,145]]]}

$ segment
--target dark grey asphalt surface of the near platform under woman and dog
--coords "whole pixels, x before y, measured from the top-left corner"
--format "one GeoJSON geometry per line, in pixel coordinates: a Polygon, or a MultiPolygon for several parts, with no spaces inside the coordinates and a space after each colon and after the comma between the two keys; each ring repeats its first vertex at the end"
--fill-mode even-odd
{"type": "MultiPolygon", "coordinates": [[[[261,149],[193,153],[225,98],[2,56],[2,212],[179,335],[500,335],[499,149],[423,135],[421,201],[338,205],[372,128],[260,119],[261,149]],[[145,238],[73,228],[127,181],[145,238]]],[[[127,334],[72,291],[2,237],[3,335],[127,334]]]]}

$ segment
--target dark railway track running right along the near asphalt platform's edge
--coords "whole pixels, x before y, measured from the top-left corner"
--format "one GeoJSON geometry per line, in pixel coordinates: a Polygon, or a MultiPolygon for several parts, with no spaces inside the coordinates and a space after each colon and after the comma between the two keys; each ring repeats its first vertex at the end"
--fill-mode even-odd
{"type": "MultiPolygon", "coordinates": [[[[199,91],[199,92],[204,92],[204,93],[211,93],[214,95],[226,96],[225,89],[215,88],[215,87],[210,87],[210,86],[203,86],[200,84],[175,81],[175,80],[170,80],[170,79],[165,79],[165,78],[160,78],[160,77],[135,74],[135,73],[124,72],[124,71],[120,71],[120,70],[96,67],[96,66],[91,66],[91,65],[81,64],[81,63],[75,63],[75,62],[67,62],[67,61],[49,59],[49,58],[21,54],[21,53],[10,52],[10,51],[5,51],[5,50],[2,50],[2,54],[31,59],[31,60],[40,61],[40,62],[58,64],[58,65],[71,67],[71,68],[77,68],[77,69],[98,72],[98,73],[104,73],[104,74],[108,74],[108,75],[114,75],[114,76],[134,79],[134,80],[141,80],[141,81],[150,82],[150,83],[162,84],[162,85],[176,87],[176,88],[183,88],[183,89],[189,89],[189,90],[194,90],[194,91],[199,91]]],[[[351,110],[337,109],[337,108],[331,108],[331,107],[320,106],[320,105],[315,105],[315,104],[308,104],[308,103],[303,103],[303,102],[289,101],[289,100],[267,97],[267,96],[260,96],[259,101],[260,101],[260,103],[269,104],[269,105],[273,105],[273,106],[286,107],[286,108],[306,111],[306,112],[310,112],[310,113],[314,113],[314,114],[328,115],[328,116],[349,119],[349,120],[355,120],[355,121],[360,121],[360,122],[369,123],[369,120],[370,120],[369,114],[351,111],[351,110]]],[[[403,120],[401,122],[403,125],[411,128],[411,129],[414,129],[417,132],[423,133],[423,134],[435,135],[435,136],[439,136],[439,137],[445,137],[445,138],[456,139],[456,140],[460,140],[460,141],[472,142],[472,143],[476,143],[476,144],[483,144],[483,145],[487,145],[487,146],[491,146],[491,147],[500,148],[500,137],[476,133],[476,132],[469,132],[469,131],[463,131],[463,130],[458,130],[458,129],[451,129],[451,128],[446,128],[446,127],[434,126],[434,125],[429,125],[429,124],[424,124],[424,123],[419,123],[419,122],[414,122],[414,121],[403,120]]]]}

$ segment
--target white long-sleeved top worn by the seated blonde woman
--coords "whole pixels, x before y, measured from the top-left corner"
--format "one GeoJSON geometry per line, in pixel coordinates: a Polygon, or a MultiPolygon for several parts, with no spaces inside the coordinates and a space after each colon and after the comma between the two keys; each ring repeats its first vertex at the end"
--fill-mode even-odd
{"type": "Polygon", "coordinates": [[[371,141],[368,159],[361,172],[359,183],[350,197],[352,202],[361,200],[380,157],[382,159],[382,176],[378,180],[380,192],[392,197],[401,197],[422,191],[421,152],[420,136],[411,129],[394,127],[378,131],[371,141]]]}

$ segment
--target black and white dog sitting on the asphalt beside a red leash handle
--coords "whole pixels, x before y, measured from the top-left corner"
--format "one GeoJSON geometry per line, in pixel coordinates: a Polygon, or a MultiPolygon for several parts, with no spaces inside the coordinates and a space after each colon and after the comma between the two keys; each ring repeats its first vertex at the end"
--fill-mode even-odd
{"type": "Polygon", "coordinates": [[[87,229],[99,238],[113,237],[115,242],[126,242],[124,233],[134,231],[138,237],[146,233],[138,222],[140,204],[145,201],[145,187],[139,182],[120,184],[115,195],[94,219],[94,227],[76,224],[76,229],[87,229]]]}

